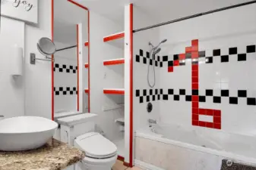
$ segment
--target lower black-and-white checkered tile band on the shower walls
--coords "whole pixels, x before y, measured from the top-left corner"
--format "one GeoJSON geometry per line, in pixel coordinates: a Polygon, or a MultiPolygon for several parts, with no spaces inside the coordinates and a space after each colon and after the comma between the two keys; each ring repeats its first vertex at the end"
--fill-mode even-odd
{"type": "Polygon", "coordinates": [[[248,91],[238,90],[235,96],[229,95],[229,90],[220,90],[220,95],[216,95],[213,89],[206,89],[204,94],[199,94],[198,90],[186,91],[185,89],[179,89],[179,93],[174,93],[173,88],[169,88],[167,93],[163,93],[163,88],[160,89],[137,89],[135,96],[140,98],[140,103],[155,101],[155,100],[182,100],[191,101],[192,95],[199,97],[199,102],[208,102],[212,100],[215,104],[221,104],[224,98],[229,100],[229,104],[239,104],[239,99],[246,100],[247,105],[256,105],[255,97],[248,97],[248,91]]]}

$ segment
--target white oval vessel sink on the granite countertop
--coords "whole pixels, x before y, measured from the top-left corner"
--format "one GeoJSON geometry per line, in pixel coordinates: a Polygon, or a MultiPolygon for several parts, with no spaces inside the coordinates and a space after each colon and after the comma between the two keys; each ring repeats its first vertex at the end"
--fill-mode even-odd
{"type": "Polygon", "coordinates": [[[0,150],[21,151],[42,147],[52,138],[55,128],[52,120],[21,116],[0,121],[0,150]]]}

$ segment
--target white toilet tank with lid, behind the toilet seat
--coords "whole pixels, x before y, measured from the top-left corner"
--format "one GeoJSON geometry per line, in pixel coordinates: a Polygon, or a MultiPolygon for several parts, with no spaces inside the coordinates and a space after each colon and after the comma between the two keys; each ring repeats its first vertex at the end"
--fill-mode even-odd
{"type": "Polygon", "coordinates": [[[95,130],[96,114],[84,113],[76,116],[68,116],[58,119],[61,125],[61,141],[74,145],[74,139],[95,130]]]}

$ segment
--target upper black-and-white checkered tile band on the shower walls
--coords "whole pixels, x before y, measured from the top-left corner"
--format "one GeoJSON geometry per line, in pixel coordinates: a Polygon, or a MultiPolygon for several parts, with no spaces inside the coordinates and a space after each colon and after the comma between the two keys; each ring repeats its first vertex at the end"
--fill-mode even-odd
{"type": "MultiPolygon", "coordinates": [[[[237,61],[245,61],[248,60],[248,54],[255,53],[256,52],[256,45],[247,45],[246,50],[243,52],[239,52],[242,50],[239,50],[238,47],[232,47],[227,49],[228,52],[224,52],[221,49],[213,49],[213,51],[198,51],[199,58],[198,59],[192,59],[191,60],[191,53],[185,54],[186,60],[179,60],[179,54],[173,54],[173,55],[165,55],[163,57],[156,56],[155,59],[155,66],[163,67],[163,63],[168,63],[168,66],[173,66],[174,60],[179,60],[179,66],[185,66],[185,63],[188,62],[188,60],[191,60],[192,63],[213,63],[215,62],[214,59],[216,57],[220,57],[220,63],[227,63],[229,62],[229,57],[236,57],[237,61]],[[209,54],[209,55],[208,55],[209,54]]],[[[256,59],[256,56],[254,57],[256,59]]],[[[135,58],[136,62],[138,63],[144,63],[150,65],[153,65],[152,56],[150,56],[150,53],[148,51],[140,50],[139,55],[136,55],[135,58]]]]}

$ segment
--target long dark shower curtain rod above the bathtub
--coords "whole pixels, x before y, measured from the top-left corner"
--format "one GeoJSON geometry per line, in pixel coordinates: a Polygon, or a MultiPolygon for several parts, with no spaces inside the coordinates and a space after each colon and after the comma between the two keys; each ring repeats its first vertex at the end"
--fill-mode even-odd
{"type": "Polygon", "coordinates": [[[146,29],[156,28],[158,26],[165,26],[165,25],[167,25],[169,23],[177,23],[177,22],[182,21],[182,20],[189,20],[189,19],[194,18],[194,17],[201,17],[203,15],[213,14],[213,13],[216,13],[216,12],[225,11],[225,10],[232,9],[232,8],[237,8],[237,7],[242,7],[242,6],[245,6],[245,5],[251,5],[251,4],[254,4],[254,3],[256,3],[256,0],[251,1],[251,2],[241,3],[241,4],[238,4],[238,5],[231,5],[231,6],[228,6],[228,7],[219,8],[219,9],[216,9],[216,10],[203,12],[203,13],[200,13],[200,14],[194,14],[194,15],[190,15],[190,16],[187,16],[187,17],[181,17],[181,18],[178,18],[178,19],[175,19],[175,20],[169,20],[167,22],[158,23],[158,24],[153,25],[153,26],[146,26],[146,27],[141,28],[141,29],[134,29],[133,32],[140,32],[140,31],[144,31],[146,29]]]}

